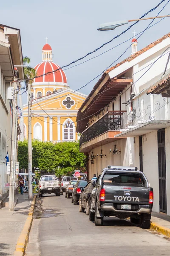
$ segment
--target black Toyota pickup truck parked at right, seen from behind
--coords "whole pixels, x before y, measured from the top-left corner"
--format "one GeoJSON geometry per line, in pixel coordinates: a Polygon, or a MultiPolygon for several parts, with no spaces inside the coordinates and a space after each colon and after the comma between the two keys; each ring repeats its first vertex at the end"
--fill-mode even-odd
{"type": "Polygon", "coordinates": [[[147,178],[136,167],[108,166],[93,181],[89,220],[96,226],[103,224],[103,217],[130,217],[130,221],[150,228],[153,207],[153,189],[147,178]]]}

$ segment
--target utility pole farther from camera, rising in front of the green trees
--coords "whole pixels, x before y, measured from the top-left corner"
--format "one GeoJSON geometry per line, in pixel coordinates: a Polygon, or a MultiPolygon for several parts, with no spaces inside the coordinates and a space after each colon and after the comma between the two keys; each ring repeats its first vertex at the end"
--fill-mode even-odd
{"type": "Polygon", "coordinates": [[[28,198],[32,199],[31,84],[28,84],[28,198]]]}

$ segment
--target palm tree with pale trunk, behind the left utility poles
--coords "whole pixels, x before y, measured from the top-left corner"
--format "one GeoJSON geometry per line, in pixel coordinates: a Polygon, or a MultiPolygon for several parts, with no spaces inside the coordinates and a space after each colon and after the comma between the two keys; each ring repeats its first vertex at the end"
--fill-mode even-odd
{"type": "MultiPolygon", "coordinates": [[[[28,56],[23,57],[23,65],[26,66],[24,67],[24,79],[26,79],[25,84],[26,84],[26,90],[28,90],[28,83],[32,84],[33,79],[36,76],[36,70],[33,67],[30,67],[28,64],[30,63],[30,58],[28,56]],[[32,79],[32,80],[29,80],[32,79]]],[[[22,95],[21,93],[19,94],[19,102],[20,102],[20,107],[23,112],[23,101],[22,101],[22,95]]],[[[23,115],[20,118],[20,128],[21,128],[21,134],[20,134],[20,140],[24,140],[24,119],[23,115]]]]}

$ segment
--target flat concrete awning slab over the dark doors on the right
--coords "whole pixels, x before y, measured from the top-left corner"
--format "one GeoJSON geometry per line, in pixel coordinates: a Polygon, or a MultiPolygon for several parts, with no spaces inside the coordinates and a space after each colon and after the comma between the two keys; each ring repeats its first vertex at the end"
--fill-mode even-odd
{"type": "Polygon", "coordinates": [[[168,126],[170,126],[170,120],[148,121],[131,129],[127,129],[127,131],[123,131],[121,134],[115,135],[115,138],[137,137],[152,131],[158,131],[160,129],[167,128],[168,126]]]}

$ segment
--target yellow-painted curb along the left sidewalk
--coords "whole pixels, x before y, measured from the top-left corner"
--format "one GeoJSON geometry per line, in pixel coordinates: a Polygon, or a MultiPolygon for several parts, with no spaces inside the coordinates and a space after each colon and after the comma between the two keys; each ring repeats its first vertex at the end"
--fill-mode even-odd
{"type": "Polygon", "coordinates": [[[37,198],[37,195],[34,195],[34,199],[31,202],[31,207],[28,213],[28,218],[26,219],[26,223],[17,241],[17,245],[14,251],[15,256],[23,256],[25,254],[26,246],[29,240],[29,233],[30,233],[31,225],[33,221],[33,213],[34,213],[36,198],[37,198]]]}

